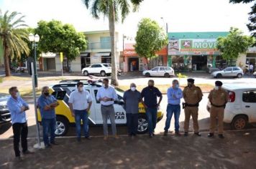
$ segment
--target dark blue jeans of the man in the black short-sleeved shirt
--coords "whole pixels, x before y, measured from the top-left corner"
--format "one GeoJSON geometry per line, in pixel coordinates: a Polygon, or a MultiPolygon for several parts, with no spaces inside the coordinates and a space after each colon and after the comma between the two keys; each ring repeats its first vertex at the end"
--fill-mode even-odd
{"type": "Polygon", "coordinates": [[[146,109],[147,122],[148,122],[148,131],[149,134],[155,130],[155,126],[157,125],[157,108],[156,107],[147,107],[146,109]]]}

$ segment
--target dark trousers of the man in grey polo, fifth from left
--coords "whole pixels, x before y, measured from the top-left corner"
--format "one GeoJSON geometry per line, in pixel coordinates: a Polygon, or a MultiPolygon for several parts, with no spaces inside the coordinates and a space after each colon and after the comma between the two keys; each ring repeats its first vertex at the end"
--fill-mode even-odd
{"type": "Polygon", "coordinates": [[[138,113],[127,113],[127,127],[129,135],[136,135],[138,130],[138,113]]]}

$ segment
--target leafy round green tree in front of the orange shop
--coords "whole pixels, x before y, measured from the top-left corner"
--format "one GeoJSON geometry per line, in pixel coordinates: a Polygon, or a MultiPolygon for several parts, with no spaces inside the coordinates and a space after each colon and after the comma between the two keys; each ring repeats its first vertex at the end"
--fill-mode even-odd
{"type": "Polygon", "coordinates": [[[138,25],[135,41],[135,51],[148,62],[157,57],[156,52],[168,44],[168,37],[156,21],[145,18],[138,25]]]}

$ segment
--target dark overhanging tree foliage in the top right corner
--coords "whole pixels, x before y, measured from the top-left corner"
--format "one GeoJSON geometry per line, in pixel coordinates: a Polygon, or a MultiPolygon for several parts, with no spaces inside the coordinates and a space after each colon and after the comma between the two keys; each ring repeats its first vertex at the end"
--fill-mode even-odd
{"type": "MultiPolygon", "coordinates": [[[[239,3],[248,4],[252,1],[255,1],[255,0],[229,0],[230,3],[234,3],[234,4],[239,4],[239,3]]],[[[251,9],[252,11],[248,13],[250,15],[249,16],[250,23],[247,24],[247,28],[252,33],[252,37],[256,37],[256,3],[253,4],[251,9]]],[[[253,46],[256,46],[256,44],[253,44],[253,46]]]]}

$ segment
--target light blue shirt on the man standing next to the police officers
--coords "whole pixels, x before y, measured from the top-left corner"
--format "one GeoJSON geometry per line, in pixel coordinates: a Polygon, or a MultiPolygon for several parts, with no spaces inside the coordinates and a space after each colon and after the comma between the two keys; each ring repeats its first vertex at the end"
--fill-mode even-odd
{"type": "Polygon", "coordinates": [[[180,88],[173,89],[170,87],[167,90],[168,104],[170,105],[180,105],[180,99],[183,97],[182,90],[180,88]]]}

